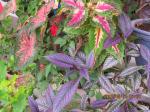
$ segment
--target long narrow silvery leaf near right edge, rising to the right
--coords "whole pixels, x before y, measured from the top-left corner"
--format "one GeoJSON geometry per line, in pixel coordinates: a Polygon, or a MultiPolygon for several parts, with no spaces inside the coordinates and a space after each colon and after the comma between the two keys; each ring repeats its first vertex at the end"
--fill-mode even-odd
{"type": "Polygon", "coordinates": [[[119,77],[126,77],[128,75],[133,74],[134,72],[137,72],[138,70],[143,69],[142,66],[131,66],[123,70],[118,76],[119,77]]]}

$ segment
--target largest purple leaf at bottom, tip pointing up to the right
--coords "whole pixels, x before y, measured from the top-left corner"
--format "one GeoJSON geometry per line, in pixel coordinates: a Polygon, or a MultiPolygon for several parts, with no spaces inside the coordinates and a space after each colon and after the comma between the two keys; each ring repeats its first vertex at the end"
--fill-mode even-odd
{"type": "Polygon", "coordinates": [[[79,82],[80,78],[75,81],[67,82],[60,88],[57,96],[55,97],[53,112],[60,112],[62,108],[64,108],[72,100],[79,82]]]}

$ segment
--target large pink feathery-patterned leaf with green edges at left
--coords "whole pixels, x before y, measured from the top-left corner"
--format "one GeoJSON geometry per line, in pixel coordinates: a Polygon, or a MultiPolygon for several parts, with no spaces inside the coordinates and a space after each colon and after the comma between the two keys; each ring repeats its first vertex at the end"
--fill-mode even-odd
{"type": "Polygon", "coordinates": [[[35,33],[29,34],[28,31],[20,33],[19,50],[16,55],[20,58],[19,65],[24,65],[34,54],[36,35],[35,33]]]}

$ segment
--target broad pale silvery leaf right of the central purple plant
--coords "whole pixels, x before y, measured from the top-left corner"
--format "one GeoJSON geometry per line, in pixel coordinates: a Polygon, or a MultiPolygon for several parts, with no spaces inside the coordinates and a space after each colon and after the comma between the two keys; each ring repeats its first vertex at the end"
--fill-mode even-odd
{"type": "Polygon", "coordinates": [[[116,60],[116,59],[114,59],[114,57],[110,56],[105,60],[104,65],[103,65],[103,70],[114,67],[117,64],[118,64],[118,60],[116,60]]]}

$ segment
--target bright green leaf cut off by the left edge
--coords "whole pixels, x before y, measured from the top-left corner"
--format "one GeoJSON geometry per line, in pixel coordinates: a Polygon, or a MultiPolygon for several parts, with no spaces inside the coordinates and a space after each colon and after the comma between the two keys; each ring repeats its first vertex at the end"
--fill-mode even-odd
{"type": "Polygon", "coordinates": [[[4,61],[0,61],[0,80],[4,80],[7,74],[7,65],[4,61]]]}

